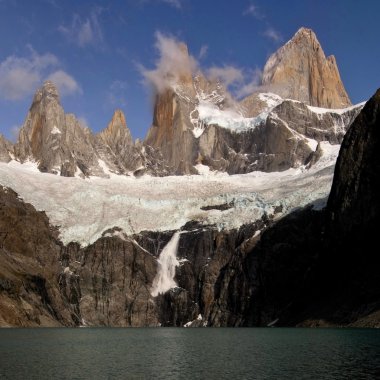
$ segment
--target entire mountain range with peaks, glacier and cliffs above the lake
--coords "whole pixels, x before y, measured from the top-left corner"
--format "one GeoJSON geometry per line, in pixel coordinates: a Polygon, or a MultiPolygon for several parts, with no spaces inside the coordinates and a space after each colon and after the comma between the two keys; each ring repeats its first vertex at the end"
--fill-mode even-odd
{"type": "Polygon", "coordinates": [[[379,326],[379,104],[306,28],[245,99],[168,75],[144,141],[45,82],[0,136],[0,325],[379,326]]]}

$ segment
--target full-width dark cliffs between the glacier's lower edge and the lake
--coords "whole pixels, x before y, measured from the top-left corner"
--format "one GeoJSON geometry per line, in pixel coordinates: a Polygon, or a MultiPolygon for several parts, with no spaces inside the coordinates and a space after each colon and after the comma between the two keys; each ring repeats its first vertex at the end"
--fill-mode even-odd
{"type": "Polygon", "coordinates": [[[44,214],[3,188],[1,324],[378,326],[379,94],[344,138],[326,210],[277,220],[274,209],[228,231],[187,223],[178,286],[158,295],[155,278],[170,264],[158,258],[174,231],[115,227],[87,247],[63,246],[44,214]]]}

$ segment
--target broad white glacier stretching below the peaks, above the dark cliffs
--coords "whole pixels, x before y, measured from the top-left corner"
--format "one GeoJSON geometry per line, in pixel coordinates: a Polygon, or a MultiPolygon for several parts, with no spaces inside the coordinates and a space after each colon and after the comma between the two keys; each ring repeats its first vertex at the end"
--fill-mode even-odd
{"type": "Polygon", "coordinates": [[[204,170],[199,176],[137,179],[115,175],[83,180],[41,173],[34,163],[11,161],[0,163],[0,184],[45,211],[59,227],[64,243],[87,245],[112,227],[126,234],[177,230],[191,220],[232,229],[264,213],[274,214],[276,206],[286,213],[310,202],[323,205],[339,145],[322,143],[321,147],[322,158],[309,170],[231,176],[204,170]],[[221,204],[228,205],[227,209],[202,210],[221,204]]]}

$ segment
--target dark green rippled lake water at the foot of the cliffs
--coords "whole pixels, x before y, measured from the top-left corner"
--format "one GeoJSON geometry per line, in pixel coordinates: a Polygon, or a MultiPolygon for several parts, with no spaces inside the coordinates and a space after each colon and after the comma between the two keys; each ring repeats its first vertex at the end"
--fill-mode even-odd
{"type": "Polygon", "coordinates": [[[2,329],[0,379],[380,379],[380,330],[2,329]]]}

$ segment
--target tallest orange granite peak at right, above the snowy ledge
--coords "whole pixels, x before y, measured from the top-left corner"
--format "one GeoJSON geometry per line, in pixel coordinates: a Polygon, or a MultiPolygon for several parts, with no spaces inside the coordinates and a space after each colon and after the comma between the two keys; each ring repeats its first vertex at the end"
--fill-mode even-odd
{"type": "Polygon", "coordinates": [[[312,106],[344,108],[351,105],[335,57],[326,58],[315,33],[305,27],[269,57],[262,84],[283,98],[312,106]]]}

